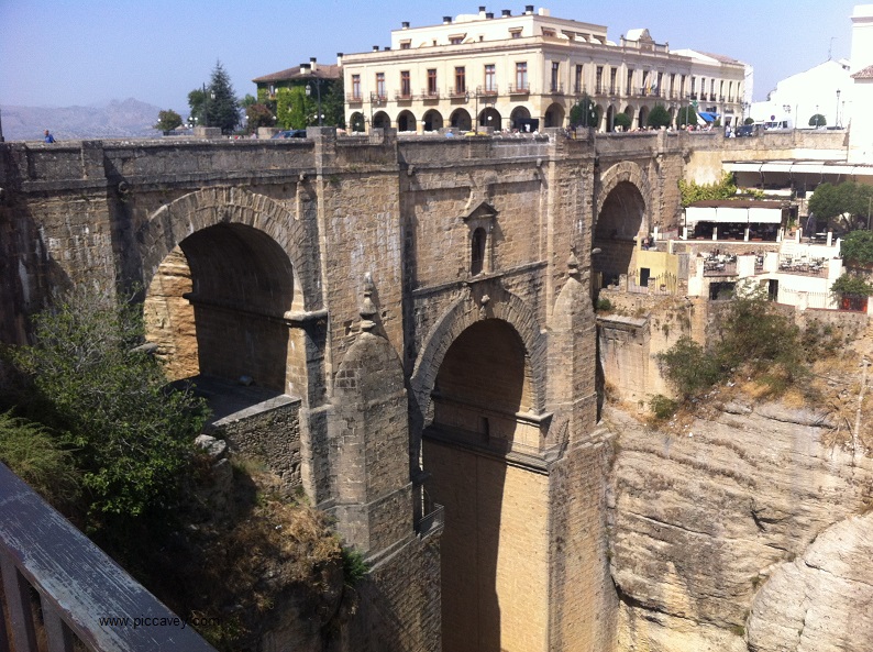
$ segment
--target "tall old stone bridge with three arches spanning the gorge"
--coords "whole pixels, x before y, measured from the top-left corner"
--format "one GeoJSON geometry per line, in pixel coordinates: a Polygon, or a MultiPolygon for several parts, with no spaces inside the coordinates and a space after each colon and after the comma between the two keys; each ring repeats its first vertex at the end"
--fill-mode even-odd
{"type": "Polygon", "coordinates": [[[608,650],[593,278],[722,139],[546,132],[0,145],[2,341],[142,287],[175,377],[283,397],[277,471],[373,563],[356,650],[608,650]]]}

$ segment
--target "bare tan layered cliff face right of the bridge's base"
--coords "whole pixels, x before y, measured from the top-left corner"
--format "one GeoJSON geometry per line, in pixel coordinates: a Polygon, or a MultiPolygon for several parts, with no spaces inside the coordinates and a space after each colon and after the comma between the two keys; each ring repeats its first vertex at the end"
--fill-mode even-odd
{"type": "Polygon", "coordinates": [[[871,504],[873,460],[828,445],[831,427],[815,410],[729,404],[707,412],[670,432],[607,412],[619,434],[616,649],[870,649],[842,643],[849,628],[825,623],[863,622],[873,640],[873,564],[863,563],[871,517],[853,518],[871,504]],[[805,614],[807,627],[818,625],[797,648],[805,614]]]}

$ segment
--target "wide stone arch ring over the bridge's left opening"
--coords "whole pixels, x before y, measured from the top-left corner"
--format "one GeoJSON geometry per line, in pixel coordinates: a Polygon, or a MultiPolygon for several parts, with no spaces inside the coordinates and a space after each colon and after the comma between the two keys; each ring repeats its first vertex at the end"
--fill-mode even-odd
{"type": "MultiPolygon", "coordinates": [[[[294,268],[295,305],[319,310],[319,262],[302,221],[287,207],[242,188],[207,188],[185,195],[152,213],[137,233],[141,281],[148,287],[161,263],[183,240],[219,224],[244,224],[272,237],[294,268]]],[[[286,308],[287,309],[287,308],[286,308]]]]}

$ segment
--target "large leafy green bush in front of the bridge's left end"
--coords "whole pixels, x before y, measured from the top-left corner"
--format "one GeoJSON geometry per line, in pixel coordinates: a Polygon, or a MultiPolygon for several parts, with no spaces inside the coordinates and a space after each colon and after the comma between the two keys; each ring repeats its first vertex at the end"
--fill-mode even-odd
{"type": "Polygon", "coordinates": [[[136,350],[143,334],[139,305],[78,290],[36,316],[34,344],[13,352],[31,383],[24,407],[73,446],[95,529],[173,507],[206,419],[202,401],[168,389],[159,361],[136,350]]]}

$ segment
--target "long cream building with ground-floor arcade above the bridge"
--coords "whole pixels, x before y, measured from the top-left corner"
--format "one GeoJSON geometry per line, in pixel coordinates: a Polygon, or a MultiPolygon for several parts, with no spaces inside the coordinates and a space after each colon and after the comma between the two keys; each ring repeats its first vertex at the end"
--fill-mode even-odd
{"type": "Polygon", "coordinates": [[[674,118],[694,106],[723,122],[742,118],[747,66],[728,57],[671,52],[648,30],[619,43],[607,27],[552,18],[527,5],[496,16],[444,16],[442,24],[391,32],[391,44],[343,58],[346,123],[427,132],[454,126],[534,131],[566,126],[583,95],[601,131],[620,111],[632,128],[664,106],[674,118]]]}

